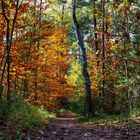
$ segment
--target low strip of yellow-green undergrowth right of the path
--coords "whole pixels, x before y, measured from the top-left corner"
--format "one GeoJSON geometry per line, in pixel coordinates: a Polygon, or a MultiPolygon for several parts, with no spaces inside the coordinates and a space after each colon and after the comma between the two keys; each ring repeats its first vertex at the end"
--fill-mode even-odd
{"type": "Polygon", "coordinates": [[[106,114],[100,113],[96,114],[92,118],[87,118],[79,115],[77,120],[80,124],[85,125],[137,125],[137,119],[140,117],[140,109],[134,108],[131,113],[128,114],[106,114]]]}

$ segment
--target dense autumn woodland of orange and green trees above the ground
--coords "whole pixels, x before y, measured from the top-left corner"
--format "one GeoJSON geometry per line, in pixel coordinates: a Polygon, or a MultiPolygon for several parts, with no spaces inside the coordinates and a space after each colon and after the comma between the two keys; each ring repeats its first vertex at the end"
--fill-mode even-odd
{"type": "Polygon", "coordinates": [[[139,0],[1,0],[0,120],[140,116],[139,25],[139,0]]]}

